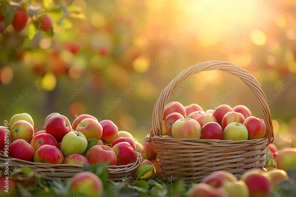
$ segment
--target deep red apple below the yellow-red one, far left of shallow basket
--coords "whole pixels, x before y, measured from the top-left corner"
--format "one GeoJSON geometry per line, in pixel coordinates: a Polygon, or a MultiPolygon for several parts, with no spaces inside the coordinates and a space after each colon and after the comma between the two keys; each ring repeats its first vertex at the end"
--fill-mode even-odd
{"type": "Polygon", "coordinates": [[[31,144],[24,139],[17,139],[10,144],[8,156],[30,162],[34,157],[34,153],[35,150],[31,144]]]}

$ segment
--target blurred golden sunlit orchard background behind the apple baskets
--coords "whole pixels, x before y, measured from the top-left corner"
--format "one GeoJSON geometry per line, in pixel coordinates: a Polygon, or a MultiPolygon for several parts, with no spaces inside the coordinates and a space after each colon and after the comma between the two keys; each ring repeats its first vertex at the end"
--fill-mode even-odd
{"type": "MultiPolygon", "coordinates": [[[[26,112],[37,131],[49,113],[59,112],[71,123],[75,114],[87,113],[112,120],[143,142],[163,88],[187,67],[215,59],[259,80],[277,146],[290,146],[289,136],[296,134],[296,1],[0,3],[7,17],[21,6],[30,13],[20,32],[0,25],[1,121],[26,112]],[[42,14],[52,18],[53,32],[38,30],[42,14]]],[[[245,105],[262,117],[252,90],[222,71],[197,74],[180,88],[170,101],[204,110],[245,105]]]]}

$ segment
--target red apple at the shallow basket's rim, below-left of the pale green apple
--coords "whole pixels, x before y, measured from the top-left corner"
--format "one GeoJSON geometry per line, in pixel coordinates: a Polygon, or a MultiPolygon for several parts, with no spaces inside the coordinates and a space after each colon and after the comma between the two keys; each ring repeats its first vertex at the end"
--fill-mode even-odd
{"type": "Polygon", "coordinates": [[[63,154],[53,145],[45,144],[40,146],[34,155],[34,162],[47,164],[62,164],[63,154]]]}

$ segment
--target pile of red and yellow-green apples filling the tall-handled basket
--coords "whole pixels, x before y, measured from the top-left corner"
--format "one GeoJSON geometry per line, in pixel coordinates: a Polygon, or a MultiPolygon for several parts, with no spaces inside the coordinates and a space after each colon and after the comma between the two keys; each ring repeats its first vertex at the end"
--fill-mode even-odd
{"type": "Polygon", "coordinates": [[[199,105],[183,106],[173,101],[165,106],[162,124],[163,135],[175,139],[200,138],[219,140],[260,139],[265,136],[263,119],[252,116],[244,105],[231,108],[219,105],[204,111],[199,105]]]}

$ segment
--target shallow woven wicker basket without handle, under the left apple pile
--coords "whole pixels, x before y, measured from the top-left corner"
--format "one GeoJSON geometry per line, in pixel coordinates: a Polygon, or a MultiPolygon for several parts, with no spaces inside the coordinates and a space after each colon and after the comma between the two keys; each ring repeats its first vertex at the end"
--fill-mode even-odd
{"type": "MultiPolygon", "coordinates": [[[[141,153],[137,153],[137,160],[134,163],[120,166],[107,166],[108,178],[107,180],[120,181],[125,176],[131,176],[131,172],[140,166],[143,157],[141,153]]],[[[21,159],[10,158],[2,156],[0,157],[0,169],[5,170],[5,162],[9,161],[9,171],[13,171],[15,168],[31,167],[34,172],[38,172],[44,176],[44,179],[52,180],[53,178],[59,178],[61,181],[72,178],[76,173],[83,172],[82,165],[74,164],[45,164],[36,162],[27,162],[21,159]],[[9,160],[7,160],[9,158],[9,160]]]]}

